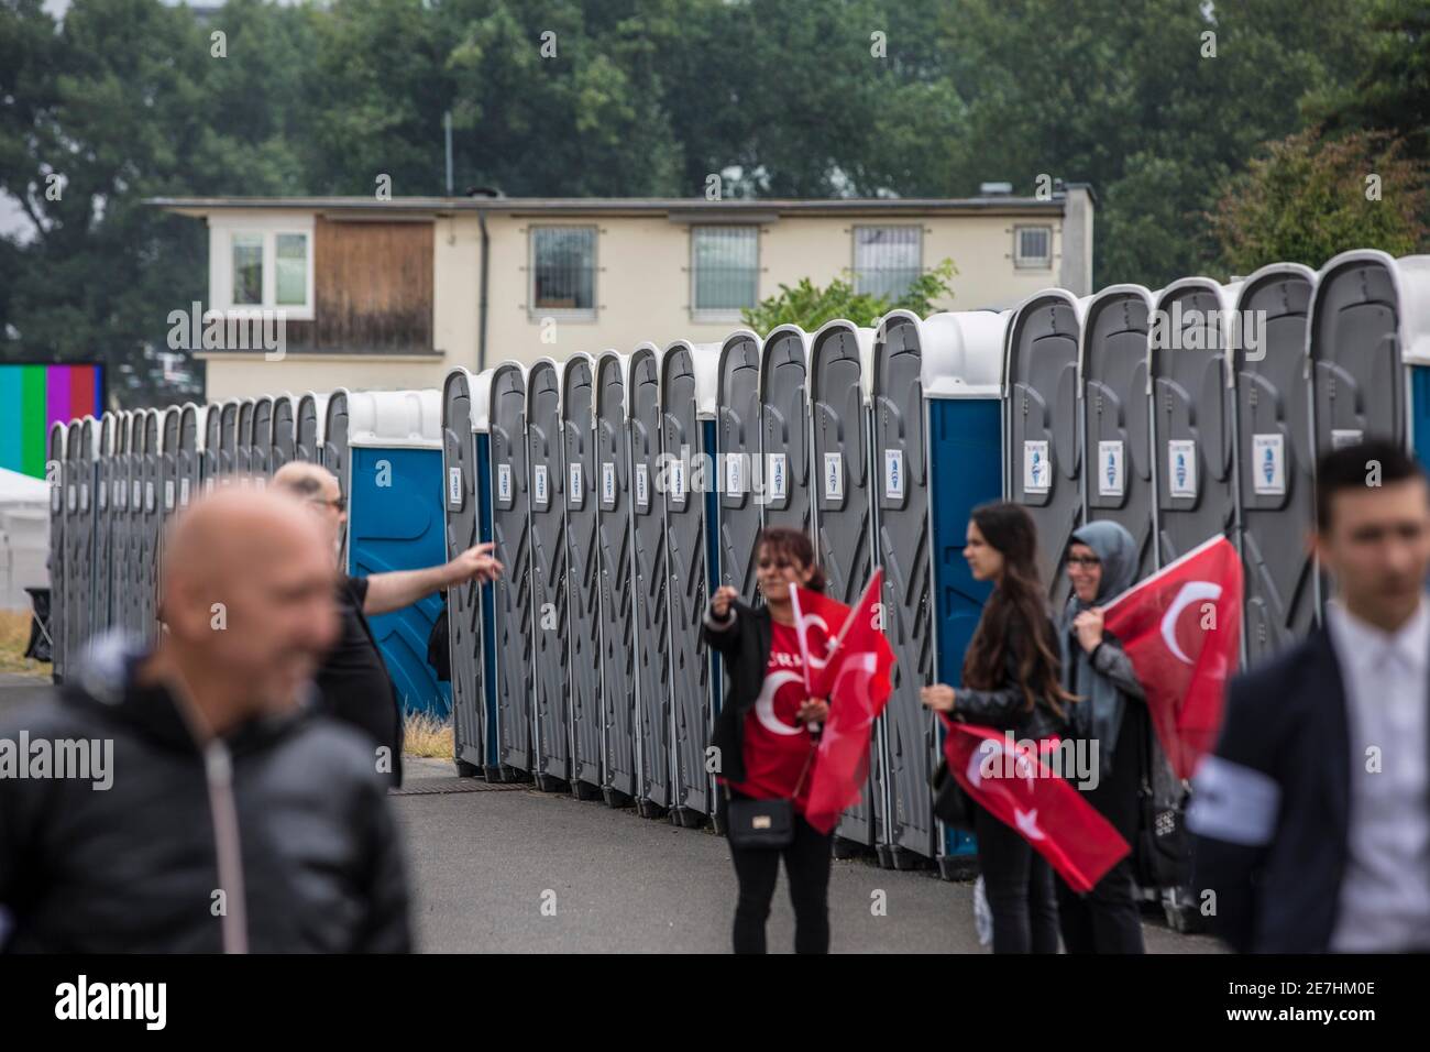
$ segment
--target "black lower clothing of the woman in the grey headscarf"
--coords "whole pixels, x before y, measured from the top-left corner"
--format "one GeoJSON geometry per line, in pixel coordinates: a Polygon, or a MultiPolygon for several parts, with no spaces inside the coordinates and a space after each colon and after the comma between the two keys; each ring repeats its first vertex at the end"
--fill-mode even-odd
{"type": "MultiPolygon", "coordinates": [[[[1113,823],[1127,843],[1137,843],[1137,741],[1148,734],[1147,710],[1128,701],[1117,731],[1113,770],[1084,789],[1083,799],[1113,823]]],[[[1091,892],[1078,895],[1058,879],[1058,917],[1068,953],[1145,953],[1131,856],[1113,866],[1091,892]]]]}

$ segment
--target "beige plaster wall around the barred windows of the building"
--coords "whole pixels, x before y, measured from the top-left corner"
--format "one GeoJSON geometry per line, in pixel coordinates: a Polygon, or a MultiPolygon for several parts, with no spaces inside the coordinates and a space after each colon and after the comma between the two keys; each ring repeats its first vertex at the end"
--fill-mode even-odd
{"type": "MultiPolygon", "coordinates": [[[[222,354],[207,358],[207,392],[213,401],[335,386],[440,386],[446,372],[478,368],[480,325],[482,235],[476,215],[433,220],[433,344],[439,356],[287,355],[266,362],[262,355],[222,354]]],[[[695,322],[691,315],[691,226],[662,216],[551,218],[489,215],[486,365],[508,358],[525,364],[541,356],[558,361],[605,348],[629,352],[642,341],[665,346],[674,339],[716,342],[738,319],[695,322]],[[596,238],[596,316],[593,321],[542,318],[531,299],[529,229],[533,225],[589,225],[596,238]]],[[[1012,306],[1057,283],[1062,250],[1061,216],[937,216],[921,222],[812,216],[781,218],[761,225],[759,298],[781,283],[809,278],[827,285],[849,278],[855,225],[918,225],[922,263],[932,268],[951,258],[958,273],[942,309],[971,311],[1012,306]],[[1014,228],[1052,226],[1052,260],[1045,269],[1014,266],[1014,228]]]]}

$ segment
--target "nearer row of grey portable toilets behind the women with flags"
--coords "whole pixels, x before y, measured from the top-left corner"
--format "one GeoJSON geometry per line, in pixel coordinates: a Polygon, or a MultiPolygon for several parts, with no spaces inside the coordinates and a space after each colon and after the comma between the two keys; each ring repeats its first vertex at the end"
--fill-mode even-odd
{"type": "Polygon", "coordinates": [[[1324,600],[1301,544],[1316,455],[1373,434],[1430,444],[1427,279],[1424,258],[1354,252],[1234,285],[1052,289],[1002,313],[456,369],[449,554],[492,540],[508,570],[449,595],[458,761],[708,820],[705,601],[719,584],[755,598],[758,531],[802,528],[841,601],[884,568],[898,658],[838,843],[957,869],[970,842],[934,820],[938,731],[918,687],[958,681],[987,594],[962,558],[971,508],[1028,507],[1057,605],[1085,521],[1123,522],[1140,575],[1231,537],[1260,660],[1324,600]],[[1248,312],[1237,349],[1226,332],[1248,312]]]}

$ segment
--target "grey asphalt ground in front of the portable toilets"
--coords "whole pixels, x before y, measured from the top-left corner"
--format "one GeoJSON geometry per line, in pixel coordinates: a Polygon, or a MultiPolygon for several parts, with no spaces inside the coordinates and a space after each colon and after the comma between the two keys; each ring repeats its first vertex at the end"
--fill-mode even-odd
{"type": "MultiPolygon", "coordinates": [[[[44,681],[0,674],[0,717],[43,701],[44,681]]],[[[450,763],[406,761],[409,789],[446,789],[450,763]]],[[[529,787],[392,797],[408,842],[413,923],[429,952],[715,952],[729,948],[735,875],[725,840],[529,787]],[[543,903],[555,915],[543,913],[543,903]]],[[[977,953],[972,885],[835,862],[835,952],[977,953]],[[874,905],[882,903],[877,916],[874,905]]],[[[1213,940],[1145,926],[1157,953],[1213,940]]],[[[781,875],[769,948],[794,920],[781,875]]]]}

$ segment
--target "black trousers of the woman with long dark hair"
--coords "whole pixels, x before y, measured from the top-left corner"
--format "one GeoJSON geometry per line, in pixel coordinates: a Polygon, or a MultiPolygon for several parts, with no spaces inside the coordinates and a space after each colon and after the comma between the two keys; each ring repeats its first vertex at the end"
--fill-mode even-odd
{"type": "Polygon", "coordinates": [[[978,872],[992,910],[994,953],[1057,953],[1052,867],[1015,829],[974,803],[978,872]]]}

